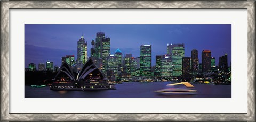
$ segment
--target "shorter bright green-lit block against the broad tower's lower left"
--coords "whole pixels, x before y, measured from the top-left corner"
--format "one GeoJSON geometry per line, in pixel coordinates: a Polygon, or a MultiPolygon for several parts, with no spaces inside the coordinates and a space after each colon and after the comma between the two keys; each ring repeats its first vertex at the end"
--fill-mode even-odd
{"type": "Polygon", "coordinates": [[[172,58],[170,55],[162,55],[160,60],[160,75],[162,77],[170,77],[173,76],[172,71],[172,58]]]}

